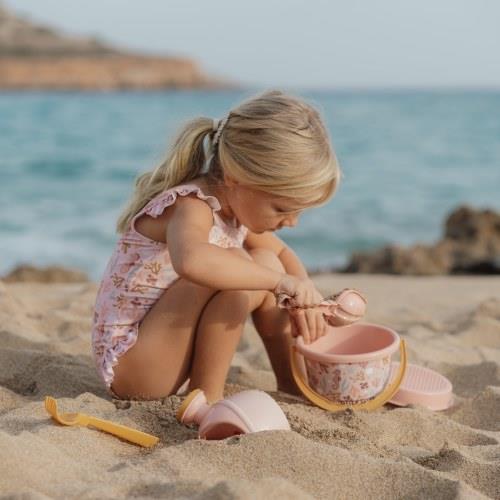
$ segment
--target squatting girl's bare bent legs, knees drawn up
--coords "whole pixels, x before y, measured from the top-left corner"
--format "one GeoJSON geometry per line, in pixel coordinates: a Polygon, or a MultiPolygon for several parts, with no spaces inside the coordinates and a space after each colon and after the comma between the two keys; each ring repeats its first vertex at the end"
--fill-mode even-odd
{"type": "MultiPolygon", "coordinates": [[[[270,251],[252,251],[251,256],[242,249],[234,251],[283,270],[270,251]]],[[[166,290],[144,317],[136,343],[114,367],[112,390],[122,398],[158,399],[177,392],[190,377],[190,388],[203,388],[209,401],[220,399],[244,323],[252,311],[278,388],[297,392],[289,372],[288,313],[276,308],[273,294],[262,290],[217,291],[183,278],[166,290]]]]}

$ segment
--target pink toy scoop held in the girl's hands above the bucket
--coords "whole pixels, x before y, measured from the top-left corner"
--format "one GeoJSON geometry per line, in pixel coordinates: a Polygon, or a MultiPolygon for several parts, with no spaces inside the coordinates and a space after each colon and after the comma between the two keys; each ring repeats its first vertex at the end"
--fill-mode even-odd
{"type": "Polygon", "coordinates": [[[294,305],[294,299],[286,293],[280,293],[276,298],[281,309],[324,309],[323,315],[331,326],[346,326],[360,320],[366,312],[366,299],[354,288],[344,288],[341,292],[326,297],[319,304],[306,307],[294,305]]]}

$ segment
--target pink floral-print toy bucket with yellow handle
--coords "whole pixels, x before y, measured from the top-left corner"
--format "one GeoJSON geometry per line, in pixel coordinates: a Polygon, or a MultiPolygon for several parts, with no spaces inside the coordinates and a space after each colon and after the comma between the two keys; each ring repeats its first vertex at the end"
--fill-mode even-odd
{"type": "MultiPolygon", "coordinates": [[[[321,401],[323,404],[319,406],[323,408],[334,410],[328,402],[362,404],[388,389],[391,356],[398,349],[406,360],[399,335],[384,326],[358,323],[330,327],[326,335],[311,344],[305,344],[302,337],[297,338],[292,350],[292,370],[306,397],[316,404],[321,401]],[[297,353],[301,355],[297,356],[299,359],[295,358],[297,353]]],[[[400,376],[391,384],[392,394],[397,391],[405,369],[406,362],[402,363],[400,376]]]]}

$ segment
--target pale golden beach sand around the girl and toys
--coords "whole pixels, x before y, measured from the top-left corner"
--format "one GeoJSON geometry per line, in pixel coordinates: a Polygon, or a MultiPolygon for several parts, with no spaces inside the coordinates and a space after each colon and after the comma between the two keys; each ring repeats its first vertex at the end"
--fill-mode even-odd
{"type": "Polygon", "coordinates": [[[363,291],[365,320],[396,329],[411,363],[447,376],[454,406],[329,413],[276,392],[248,324],[226,392],[268,391],[292,431],[199,440],[175,419],[180,397],[126,402],[105,392],[90,356],[96,283],[0,282],[1,498],[500,498],[500,277],[314,280],[325,295],[363,291]],[[46,395],[62,411],[130,425],[160,443],[145,449],[60,426],[46,395]]]}

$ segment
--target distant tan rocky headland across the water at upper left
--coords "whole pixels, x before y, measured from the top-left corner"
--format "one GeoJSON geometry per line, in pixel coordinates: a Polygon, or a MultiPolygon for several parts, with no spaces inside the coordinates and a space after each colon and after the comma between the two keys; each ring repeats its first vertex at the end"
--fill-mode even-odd
{"type": "Polygon", "coordinates": [[[192,60],[125,52],[35,24],[0,4],[0,89],[114,90],[231,87],[192,60]]]}

